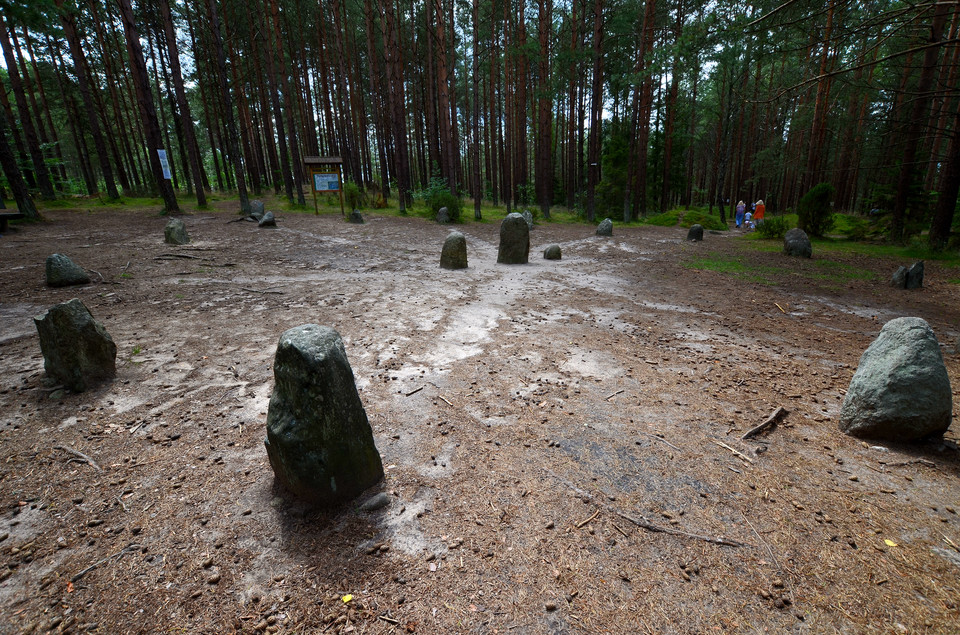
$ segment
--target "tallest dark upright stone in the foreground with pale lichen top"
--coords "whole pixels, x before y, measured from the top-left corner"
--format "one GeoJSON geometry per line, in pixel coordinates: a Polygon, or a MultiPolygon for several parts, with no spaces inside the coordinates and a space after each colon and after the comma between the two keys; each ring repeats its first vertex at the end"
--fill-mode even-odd
{"type": "Polygon", "coordinates": [[[277,481],[308,502],[335,505],[383,478],[373,431],[343,340],[305,324],[280,337],[265,445],[277,481]]]}

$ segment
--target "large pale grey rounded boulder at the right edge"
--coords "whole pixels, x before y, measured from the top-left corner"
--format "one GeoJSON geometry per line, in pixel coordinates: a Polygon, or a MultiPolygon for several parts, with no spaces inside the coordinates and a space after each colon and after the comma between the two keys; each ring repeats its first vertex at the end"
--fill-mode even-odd
{"type": "Polygon", "coordinates": [[[940,345],[921,318],[887,322],[860,357],[840,409],[840,430],[887,441],[942,435],[953,397],[940,345]]]}

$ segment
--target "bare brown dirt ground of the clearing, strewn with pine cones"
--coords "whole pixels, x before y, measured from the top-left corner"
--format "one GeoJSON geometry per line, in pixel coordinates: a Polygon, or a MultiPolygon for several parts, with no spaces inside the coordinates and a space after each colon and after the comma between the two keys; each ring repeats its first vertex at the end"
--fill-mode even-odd
{"type": "Polygon", "coordinates": [[[0,633],[957,632],[956,424],[895,447],[836,423],[894,317],[960,387],[956,271],[903,292],[889,259],[551,224],[504,266],[473,223],[451,272],[450,228],[366,216],[200,212],[172,247],[155,210],[61,210],[0,238],[0,633]],[[54,252],[95,282],[45,287],[54,252]],[[684,266],[734,256],[767,283],[684,266]],[[82,394],[31,319],[72,297],[119,348],[82,394]],[[386,468],[332,512],[263,447],[305,323],[343,336],[386,468]]]}

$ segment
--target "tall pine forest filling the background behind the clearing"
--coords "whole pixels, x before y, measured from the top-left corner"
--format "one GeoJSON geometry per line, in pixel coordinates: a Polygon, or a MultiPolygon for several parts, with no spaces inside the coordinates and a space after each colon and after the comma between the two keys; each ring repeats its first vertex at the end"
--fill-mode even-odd
{"type": "Polygon", "coordinates": [[[0,163],[32,197],[282,193],[305,156],[395,200],[630,221],[821,183],[943,246],[960,3],[0,1],[0,163]],[[164,178],[157,150],[169,158],[164,178]]]}

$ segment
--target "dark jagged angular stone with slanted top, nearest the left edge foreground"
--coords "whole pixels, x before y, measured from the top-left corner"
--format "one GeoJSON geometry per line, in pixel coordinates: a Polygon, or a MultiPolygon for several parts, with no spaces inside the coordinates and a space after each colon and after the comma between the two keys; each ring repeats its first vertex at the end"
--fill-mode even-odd
{"type": "Polygon", "coordinates": [[[117,345],[80,300],[58,304],[33,318],[47,375],[83,392],[117,372],[117,345]]]}

